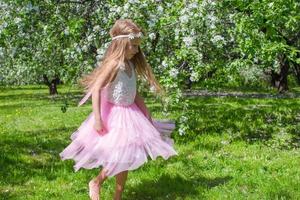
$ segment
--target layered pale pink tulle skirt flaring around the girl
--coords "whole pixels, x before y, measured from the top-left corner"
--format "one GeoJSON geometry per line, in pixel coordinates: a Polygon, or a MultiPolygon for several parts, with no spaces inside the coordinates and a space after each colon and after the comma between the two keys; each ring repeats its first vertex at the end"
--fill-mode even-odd
{"type": "Polygon", "coordinates": [[[75,172],[102,166],[107,176],[114,176],[137,169],[148,156],[155,160],[158,156],[168,159],[177,155],[170,138],[174,122],[153,119],[152,124],[135,103],[121,106],[101,98],[101,118],[106,133],[94,129],[95,116],[91,112],[59,154],[62,160],[75,161],[75,172]]]}

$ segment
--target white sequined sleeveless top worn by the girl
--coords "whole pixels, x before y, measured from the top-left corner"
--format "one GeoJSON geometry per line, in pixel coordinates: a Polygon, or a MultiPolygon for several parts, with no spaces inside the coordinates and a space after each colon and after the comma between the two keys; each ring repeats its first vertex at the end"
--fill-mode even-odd
{"type": "Polygon", "coordinates": [[[103,88],[107,101],[124,106],[134,103],[136,95],[136,72],[131,61],[129,61],[129,66],[131,77],[126,74],[124,66],[120,65],[113,82],[103,88]]]}

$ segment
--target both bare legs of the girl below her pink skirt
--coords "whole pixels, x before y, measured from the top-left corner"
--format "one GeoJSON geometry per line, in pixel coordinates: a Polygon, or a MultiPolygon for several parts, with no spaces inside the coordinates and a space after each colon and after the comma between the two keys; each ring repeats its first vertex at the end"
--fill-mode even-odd
{"type": "MultiPolygon", "coordinates": [[[[114,195],[114,200],[121,200],[122,192],[124,190],[125,182],[127,180],[127,175],[128,175],[128,171],[123,171],[115,176],[116,191],[114,195]]],[[[101,185],[106,179],[107,179],[106,170],[102,169],[99,175],[89,182],[91,200],[100,200],[99,190],[101,190],[101,185]]]]}

